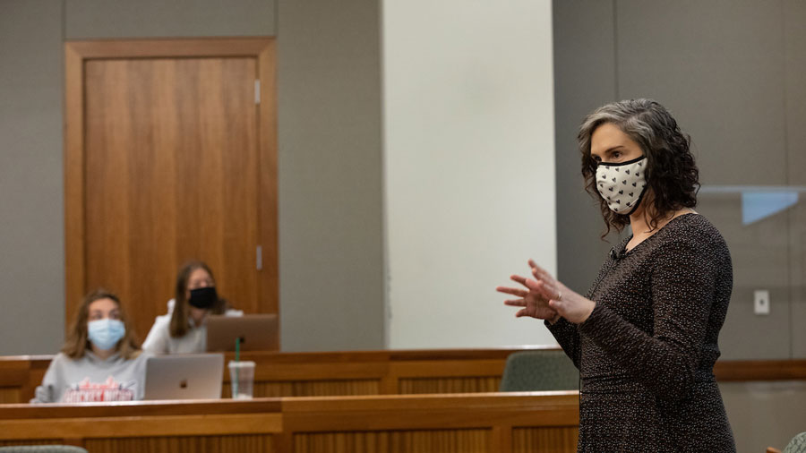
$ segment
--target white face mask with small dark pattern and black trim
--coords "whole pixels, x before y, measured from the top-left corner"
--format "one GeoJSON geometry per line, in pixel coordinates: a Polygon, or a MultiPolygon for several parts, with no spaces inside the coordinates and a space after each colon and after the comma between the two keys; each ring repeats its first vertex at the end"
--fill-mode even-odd
{"type": "Polygon", "coordinates": [[[617,164],[599,162],[596,167],[596,189],[616,214],[629,216],[638,208],[647,179],[644,176],[646,156],[617,164]]]}

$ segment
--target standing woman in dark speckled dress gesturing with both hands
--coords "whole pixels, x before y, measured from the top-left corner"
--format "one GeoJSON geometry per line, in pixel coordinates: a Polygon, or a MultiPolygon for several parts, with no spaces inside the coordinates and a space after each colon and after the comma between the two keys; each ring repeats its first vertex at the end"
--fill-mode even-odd
{"type": "MultiPolygon", "coordinates": [[[[693,210],[688,135],[647,99],[608,104],[579,132],[582,175],[607,232],[630,225],[586,296],[534,261],[499,286],[516,316],[545,320],[582,379],[578,449],[733,452],[713,374],[733,288],[722,235],[693,210]]],[[[606,235],[606,233],[605,233],[606,235]]]]}

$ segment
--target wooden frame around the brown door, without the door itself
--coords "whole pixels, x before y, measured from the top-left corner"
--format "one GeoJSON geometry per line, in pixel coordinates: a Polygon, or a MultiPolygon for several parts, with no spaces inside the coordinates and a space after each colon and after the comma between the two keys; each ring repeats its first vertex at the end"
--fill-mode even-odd
{"type": "MultiPolygon", "coordinates": [[[[105,39],[64,43],[64,303],[65,334],[86,288],[84,226],[84,64],[91,59],[254,57],[261,81],[258,128],[259,306],[279,313],[277,223],[277,77],[275,38],[105,39]]],[[[256,244],[257,245],[257,244],[256,244]]],[[[256,257],[257,258],[257,257],[256,257]]]]}

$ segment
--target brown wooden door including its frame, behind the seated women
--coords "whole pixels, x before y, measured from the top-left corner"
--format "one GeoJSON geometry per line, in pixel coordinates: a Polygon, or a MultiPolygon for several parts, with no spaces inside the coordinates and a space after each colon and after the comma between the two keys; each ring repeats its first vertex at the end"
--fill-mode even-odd
{"type": "Polygon", "coordinates": [[[67,44],[68,323],[103,286],[145,338],[188,260],[236,308],[278,312],[271,44],[67,44]]]}

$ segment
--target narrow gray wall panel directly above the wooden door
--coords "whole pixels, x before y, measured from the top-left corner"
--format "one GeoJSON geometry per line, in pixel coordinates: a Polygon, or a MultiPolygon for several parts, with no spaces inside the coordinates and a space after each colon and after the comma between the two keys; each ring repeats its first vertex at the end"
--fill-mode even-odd
{"type": "Polygon", "coordinates": [[[68,0],[68,39],[273,36],[274,0],[68,0]]]}

